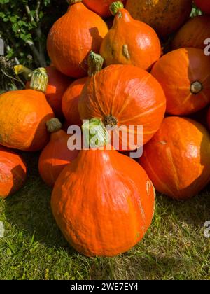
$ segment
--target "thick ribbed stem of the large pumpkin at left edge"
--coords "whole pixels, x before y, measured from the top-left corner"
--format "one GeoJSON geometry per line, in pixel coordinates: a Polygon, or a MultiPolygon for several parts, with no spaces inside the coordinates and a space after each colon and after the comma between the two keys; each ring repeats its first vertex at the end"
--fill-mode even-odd
{"type": "Polygon", "coordinates": [[[48,87],[47,71],[43,67],[40,67],[39,69],[36,69],[35,71],[33,71],[31,76],[30,88],[33,90],[37,90],[37,91],[41,91],[45,93],[47,87],[48,87]]]}

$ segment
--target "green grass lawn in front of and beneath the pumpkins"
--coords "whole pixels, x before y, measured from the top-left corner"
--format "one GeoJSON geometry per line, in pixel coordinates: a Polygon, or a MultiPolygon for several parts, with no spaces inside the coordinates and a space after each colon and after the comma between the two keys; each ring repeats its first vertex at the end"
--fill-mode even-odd
{"type": "Polygon", "coordinates": [[[140,244],[116,258],[85,258],[67,244],[50,212],[50,190],[25,155],[29,178],[0,201],[0,279],[210,279],[208,189],[188,202],[158,195],[153,225],[140,244]]]}

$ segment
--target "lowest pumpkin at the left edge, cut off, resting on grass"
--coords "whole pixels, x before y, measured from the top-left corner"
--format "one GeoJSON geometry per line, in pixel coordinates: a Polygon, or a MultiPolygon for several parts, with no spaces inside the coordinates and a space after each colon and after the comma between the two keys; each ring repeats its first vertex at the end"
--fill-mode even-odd
{"type": "Polygon", "coordinates": [[[0,198],[6,198],[22,188],[27,167],[20,155],[0,146],[0,198]]]}

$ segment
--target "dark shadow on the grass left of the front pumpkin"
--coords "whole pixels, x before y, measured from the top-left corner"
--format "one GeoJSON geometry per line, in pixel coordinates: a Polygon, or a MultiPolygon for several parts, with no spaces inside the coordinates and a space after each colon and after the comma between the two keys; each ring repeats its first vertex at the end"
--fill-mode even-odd
{"type": "Polygon", "coordinates": [[[15,195],[6,198],[5,215],[11,225],[18,227],[26,239],[34,236],[48,248],[64,248],[69,253],[74,250],[59,231],[50,209],[52,190],[38,175],[39,153],[22,153],[29,167],[25,186],[15,195]]]}

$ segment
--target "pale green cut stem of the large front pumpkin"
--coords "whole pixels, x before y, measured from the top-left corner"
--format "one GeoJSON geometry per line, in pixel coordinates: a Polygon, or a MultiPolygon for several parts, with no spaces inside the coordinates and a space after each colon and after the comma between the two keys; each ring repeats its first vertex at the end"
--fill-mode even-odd
{"type": "Polygon", "coordinates": [[[100,118],[87,120],[83,126],[84,144],[88,148],[101,148],[110,142],[109,132],[100,118]]]}

